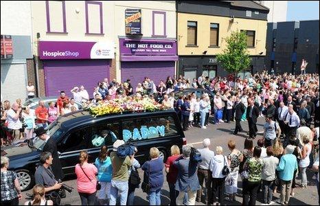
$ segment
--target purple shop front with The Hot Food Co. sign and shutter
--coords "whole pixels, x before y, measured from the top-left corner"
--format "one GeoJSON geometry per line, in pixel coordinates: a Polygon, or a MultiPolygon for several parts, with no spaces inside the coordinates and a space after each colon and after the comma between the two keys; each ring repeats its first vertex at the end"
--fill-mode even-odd
{"type": "Polygon", "coordinates": [[[119,44],[121,79],[130,79],[134,90],[145,77],[158,85],[168,76],[175,76],[175,40],[120,38],[119,44]]]}

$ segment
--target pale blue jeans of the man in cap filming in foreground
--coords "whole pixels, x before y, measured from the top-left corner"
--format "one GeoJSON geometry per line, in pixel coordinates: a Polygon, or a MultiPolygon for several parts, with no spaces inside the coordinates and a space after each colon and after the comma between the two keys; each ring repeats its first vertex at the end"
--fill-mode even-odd
{"type": "Polygon", "coordinates": [[[117,203],[118,192],[120,194],[120,204],[126,205],[126,199],[128,197],[128,181],[111,180],[109,205],[115,205],[117,203]]]}

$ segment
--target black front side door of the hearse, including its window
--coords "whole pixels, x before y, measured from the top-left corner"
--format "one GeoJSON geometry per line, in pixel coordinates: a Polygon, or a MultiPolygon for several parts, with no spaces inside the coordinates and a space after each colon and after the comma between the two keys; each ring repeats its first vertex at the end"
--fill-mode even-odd
{"type": "Polygon", "coordinates": [[[90,130],[89,126],[75,128],[58,141],[57,148],[65,174],[74,173],[74,167],[79,162],[80,152],[88,149],[90,130]]]}

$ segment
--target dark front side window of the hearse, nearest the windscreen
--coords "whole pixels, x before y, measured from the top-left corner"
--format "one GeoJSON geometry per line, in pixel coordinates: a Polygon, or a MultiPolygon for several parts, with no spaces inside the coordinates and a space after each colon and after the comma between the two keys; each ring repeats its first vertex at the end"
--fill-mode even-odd
{"type": "Polygon", "coordinates": [[[58,144],[58,151],[69,152],[88,148],[87,131],[89,128],[73,130],[65,139],[58,144]]]}

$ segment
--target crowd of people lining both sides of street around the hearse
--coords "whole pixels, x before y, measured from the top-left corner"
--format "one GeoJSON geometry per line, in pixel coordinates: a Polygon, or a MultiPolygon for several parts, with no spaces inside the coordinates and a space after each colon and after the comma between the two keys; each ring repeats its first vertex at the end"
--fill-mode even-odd
{"type": "MultiPolygon", "coordinates": [[[[23,138],[21,117],[25,123],[30,124],[25,126],[25,137],[31,138],[36,126],[42,128],[53,122],[58,115],[65,113],[64,108],[65,110],[72,108],[71,102],[76,99],[84,106],[91,106],[98,104],[99,101],[115,98],[130,96],[150,98],[155,102],[161,102],[165,107],[173,108],[179,115],[184,130],[192,126],[206,129],[210,124],[234,121],[236,128],[233,134],[238,135],[243,131],[241,122],[247,120],[249,133],[243,149],[237,149],[236,142],[230,139],[227,142],[230,152],[225,156],[223,146],[217,146],[212,150],[210,139],[204,139],[203,148],[196,151],[201,154],[201,161],[194,161],[196,153],[194,148],[183,146],[181,152],[178,146],[172,146],[171,156],[164,165],[157,148],[150,149],[150,161],[146,161],[143,165],[140,165],[134,155],[119,157],[117,148],[124,144],[121,140],[115,141],[111,152],[108,152],[105,146],[102,147],[95,165],[87,162],[88,154],[82,151],[80,163],[76,165],[77,186],[82,205],[94,204],[97,181],[101,184],[98,195],[100,204],[115,205],[119,194],[121,205],[132,205],[135,188],[138,188],[139,184],[135,185],[130,178],[137,174],[138,168],[144,170],[144,182],[148,182],[150,186],[148,190],[150,205],[161,205],[161,188],[165,176],[163,171],[166,173],[170,188],[170,205],[194,205],[196,201],[205,201],[210,205],[223,205],[225,201],[233,203],[239,194],[239,176],[242,179],[243,205],[255,205],[257,194],[261,189],[263,203],[273,203],[273,194],[279,191],[278,202],[288,205],[290,196],[295,196],[297,176],[301,176],[300,187],[307,187],[308,168],[313,165],[315,172],[319,171],[319,74],[307,73],[294,76],[284,73],[275,76],[262,72],[244,80],[234,79],[231,75],[227,78],[217,77],[214,80],[201,76],[190,83],[182,76],[173,80],[168,77],[157,87],[152,80],[145,78],[134,91],[130,80],[123,84],[113,80],[109,84],[108,80],[104,79],[98,83],[93,93],[93,100],[83,98],[78,94],[77,88],[71,90],[73,92],[71,100],[61,91],[56,107],[55,102],[49,104],[49,108],[45,108],[43,102],[39,102],[33,117],[30,117],[32,116],[30,109],[22,109],[21,102],[19,104],[17,101],[11,107],[10,102],[4,102],[5,115],[1,116],[1,120],[6,119],[8,125],[1,124],[1,127],[7,126],[11,137],[5,138],[1,133],[1,144],[7,144],[6,141],[10,139],[15,141],[23,138]],[[207,93],[203,93],[201,97],[196,93],[190,93],[179,96],[177,100],[174,98],[173,91],[187,88],[212,91],[214,99],[210,100],[207,93]],[[49,117],[52,118],[49,120],[49,117]],[[258,139],[257,146],[254,146],[253,140],[257,137],[259,117],[265,117],[264,133],[263,137],[258,139]],[[228,194],[226,197],[225,193],[228,194]]],[[[45,141],[49,139],[49,137],[42,138],[45,141]]],[[[47,150],[47,153],[44,151],[41,155],[43,168],[39,167],[37,170],[51,171],[47,172],[46,178],[43,178],[49,179],[49,182],[37,181],[36,178],[37,184],[45,186],[45,192],[58,190],[61,184],[56,179],[63,177],[59,174],[60,170],[57,170],[58,163],[54,163],[55,166],[50,169],[56,148],[47,150]]],[[[8,168],[8,159],[1,157],[1,202],[12,199],[16,201],[20,192],[16,187],[15,174],[5,168],[8,168]]],[[[43,172],[38,172],[38,175],[43,175],[43,172]]],[[[317,187],[319,193],[319,173],[317,187]]],[[[41,186],[36,185],[34,193],[38,197],[37,203],[45,201],[41,186]]]]}

